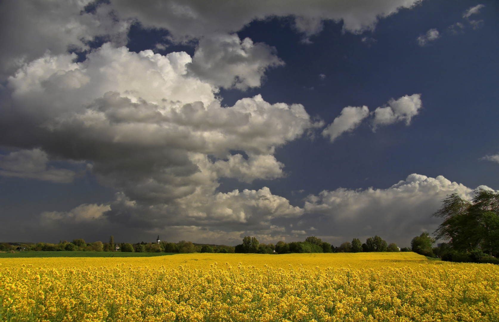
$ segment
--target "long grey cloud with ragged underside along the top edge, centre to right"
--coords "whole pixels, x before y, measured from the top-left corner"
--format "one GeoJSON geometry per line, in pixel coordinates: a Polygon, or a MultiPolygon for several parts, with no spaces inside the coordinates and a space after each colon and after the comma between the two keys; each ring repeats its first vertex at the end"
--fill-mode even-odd
{"type": "Polygon", "coordinates": [[[133,0],[113,1],[112,7],[122,18],[137,19],[145,27],[168,29],[174,41],[201,38],[214,33],[233,33],[253,20],[293,16],[294,26],[305,36],[322,30],[322,20],[343,21],[343,30],[361,33],[372,30],[379,18],[412,8],[420,0],[395,1],[232,1],[231,5],[213,5],[203,1],[156,0],[142,5],[133,0]]]}

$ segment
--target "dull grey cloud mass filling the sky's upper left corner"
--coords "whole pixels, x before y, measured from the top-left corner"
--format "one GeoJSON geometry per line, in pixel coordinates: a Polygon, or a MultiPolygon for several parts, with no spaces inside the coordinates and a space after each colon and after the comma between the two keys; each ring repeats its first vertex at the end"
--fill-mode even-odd
{"type": "Polygon", "coordinates": [[[113,18],[109,6],[87,13],[91,0],[1,1],[0,80],[22,64],[42,56],[71,50],[88,50],[97,36],[125,44],[129,21],[113,18]]]}

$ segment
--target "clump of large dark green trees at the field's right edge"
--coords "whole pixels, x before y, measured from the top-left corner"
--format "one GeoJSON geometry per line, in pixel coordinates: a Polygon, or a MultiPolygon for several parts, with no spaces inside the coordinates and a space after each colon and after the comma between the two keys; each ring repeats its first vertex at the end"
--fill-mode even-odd
{"type": "Polygon", "coordinates": [[[435,240],[423,233],[413,239],[413,251],[443,261],[499,264],[499,192],[479,188],[471,201],[453,193],[433,216],[444,220],[436,239],[448,242],[431,248],[435,240]]]}

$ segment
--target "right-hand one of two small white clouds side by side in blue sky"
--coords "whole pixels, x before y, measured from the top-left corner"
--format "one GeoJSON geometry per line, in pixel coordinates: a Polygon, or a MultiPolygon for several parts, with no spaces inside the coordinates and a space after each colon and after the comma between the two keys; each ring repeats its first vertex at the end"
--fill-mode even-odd
{"type": "Polygon", "coordinates": [[[411,119],[418,115],[421,106],[421,94],[405,95],[397,100],[392,98],[388,106],[378,107],[374,111],[373,131],[377,126],[401,121],[405,121],[406,125],[411,124],[411,119]]]}

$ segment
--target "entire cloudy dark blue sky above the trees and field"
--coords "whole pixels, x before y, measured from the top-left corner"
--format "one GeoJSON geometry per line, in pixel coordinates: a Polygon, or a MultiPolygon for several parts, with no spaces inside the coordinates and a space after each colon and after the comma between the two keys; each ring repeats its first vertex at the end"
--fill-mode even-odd
{"type": "Polygon", "coordinates": [[[495,0],[0,1],[0,242],[430,234],[499,189],[495,0]]]}

